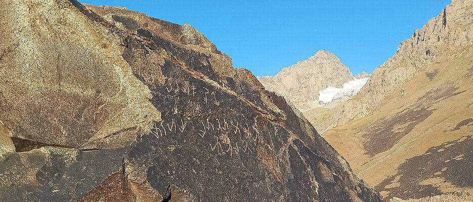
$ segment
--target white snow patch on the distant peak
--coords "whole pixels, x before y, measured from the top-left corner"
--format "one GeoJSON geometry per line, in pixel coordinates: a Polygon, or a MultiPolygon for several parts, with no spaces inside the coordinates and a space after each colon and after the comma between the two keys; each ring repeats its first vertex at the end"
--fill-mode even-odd
{"type": "Polygon", "coordinates": [[[368,79],[369,77],[363,79],[353,77],[353,81],[343,84],[341,88],[328,86],[326,89],[319,91],[319,98],[317,100],[326,104],[343,96],[353,97],[360,92],[361,88],[368,82],[368,79]]]}

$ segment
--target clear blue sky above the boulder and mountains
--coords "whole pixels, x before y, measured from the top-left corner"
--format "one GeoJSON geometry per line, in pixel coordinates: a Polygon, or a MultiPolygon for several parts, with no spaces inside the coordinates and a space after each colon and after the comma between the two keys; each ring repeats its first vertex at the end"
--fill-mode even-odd
{"type": "Polygon", "coordinates": [[[79,1],[188,22],[230,55],[235,67],[256,76],[274,75],[319,49],[335,53],[354,74],[371,73],[414,29],[450,4],[450,0],[79,1]]]}

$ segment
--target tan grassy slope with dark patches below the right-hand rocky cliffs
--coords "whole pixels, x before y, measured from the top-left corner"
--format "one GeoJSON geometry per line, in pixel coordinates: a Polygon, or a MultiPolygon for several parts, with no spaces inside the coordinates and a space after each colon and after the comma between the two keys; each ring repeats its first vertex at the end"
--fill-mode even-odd
{"type": "Polygon", "coordinates": [[[457,169],[466,168],[471,159],[456,158],[472,153],[468,140],[473,127],[466,122],[473,114],[473,92],[471,86],[463,85],[472,82],[467,75],[473,63],[465,59],[471,56],[465,53],[449,62],[435,63],[432,68],[440,73],[434,79],[425,75],[414,78],[387,97],[372,115],[329,129],[323,137],[350,162],[355,173],[385,196],[424,197],[469,189],[471,177],[452,183],[443,175],[471,173],[457,169]],[[429,85],[419,85],[423,83],[429,85]],[[401,96],[403,89],[405,95],[401,96]],[[458,148],[453,149],[456,144],[458,148]],[[419,158],[426,162],[413,164],[419,158]],[[456,162],[455,168],[448,166],[449,161],[456,162]],[[431,173],[424,173],[422,166],[432,166],[431,173]],[[407,184],[409,188],[402,186],[407,184]]]}

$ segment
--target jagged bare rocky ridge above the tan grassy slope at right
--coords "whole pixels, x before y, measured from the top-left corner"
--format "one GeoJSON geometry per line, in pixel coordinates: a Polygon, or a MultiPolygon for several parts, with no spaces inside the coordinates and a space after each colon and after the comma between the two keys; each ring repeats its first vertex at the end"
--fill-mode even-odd
{"type": "MultiPolygon", "coordinates": [[[[338,124],[361,118],[376,110],[384,99],[405,82],[424,75],[426,66],[435,58],[445,55],[451,59],[455,53],[471,45],[470,1],[454,0],[437,17],[430,19],[411,38],[401,42],[393,57],[377,67],[358,95],[336,110],[312,121],[320,132],[338,124]]],[[[435,72],[432,72],[435,74],[435,72]]]]}

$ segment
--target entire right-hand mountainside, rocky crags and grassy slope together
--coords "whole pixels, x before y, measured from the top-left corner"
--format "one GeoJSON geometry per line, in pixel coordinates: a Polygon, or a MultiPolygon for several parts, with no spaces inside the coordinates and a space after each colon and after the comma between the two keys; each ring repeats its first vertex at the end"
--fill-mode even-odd
{"type": "Polygon", "coordinates": [[[473,192],[473,1],[454,0],[347,102],[308,117],[383,196],[473,192]]]}

